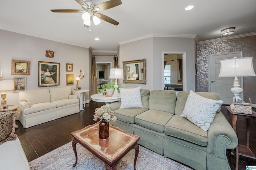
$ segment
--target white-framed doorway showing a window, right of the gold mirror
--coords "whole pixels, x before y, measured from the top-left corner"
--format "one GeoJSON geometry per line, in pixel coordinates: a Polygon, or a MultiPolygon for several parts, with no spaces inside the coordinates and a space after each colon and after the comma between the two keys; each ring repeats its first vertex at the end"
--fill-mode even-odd
{"type": "MultiPolygon", "coordinates": [[[[180,60],[181,61],[181,60],[180,60]]],[[[186,91],[187,90],[187,78],[186,78],[186,52],[162,52],[162,87],[163,89],[178,89],[179,91],[186,91]],[[167,55],[176,55],[174,58],[170,58],[170,75],[166,75],[164,73],[164,67],[166,66],[167,62],[165,63],[165,57],[167,55]],[[179,57],[180,56],[180,57],[179,57]],[[178,59],[182,59],[182,62],[179,64],[178,59]],[[180,70],[179,68],[182,69],[180,70]],[[181,73],[181,75],[180,75],[181,73]],[[167,81],[167,79],[170,79],[167,81]],[[181,80],[182,79],[182,80],[181,80]],[[170,83],[165,83],[170,82],[170,83]]],[[[169,67],[169,66],[168,66],[169,67]]]]}

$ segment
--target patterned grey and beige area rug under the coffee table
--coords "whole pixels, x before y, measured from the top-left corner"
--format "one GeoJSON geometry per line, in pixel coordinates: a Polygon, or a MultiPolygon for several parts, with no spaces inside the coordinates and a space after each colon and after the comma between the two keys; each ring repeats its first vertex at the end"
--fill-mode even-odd
{"type": "MultiPolygon", "coordinates": [[[[29,162],[31,170],[105,170],[104,163],[80,144],[76,144],[78,161],[69,142],[51,152],[29,162]]],[[[132,149],[120,160],[117,170],[133,170],[135,150],[132,149]]],[[[165,158],[140,146],[136,170],[191,170],[173,160],[165,158]]]]}

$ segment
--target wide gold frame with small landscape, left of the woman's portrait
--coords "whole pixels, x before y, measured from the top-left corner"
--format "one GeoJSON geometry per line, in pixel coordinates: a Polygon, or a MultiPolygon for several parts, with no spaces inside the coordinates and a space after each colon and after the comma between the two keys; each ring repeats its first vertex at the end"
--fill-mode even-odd
{"type": "Polygon", "coordinates": [[[12,59],[11,75],[30,75],[30,61],[12,59]]]}

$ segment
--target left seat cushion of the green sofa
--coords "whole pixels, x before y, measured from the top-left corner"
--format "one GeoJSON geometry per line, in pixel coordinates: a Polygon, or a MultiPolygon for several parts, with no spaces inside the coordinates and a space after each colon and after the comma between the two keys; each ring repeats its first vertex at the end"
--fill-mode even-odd
{"type": "Polygon", "coordinates": [[[135,117],[146,110],[148,109],[146,108],[117,109],[114,111],[114,115],[120,121],[134,124],[135,117]]]}

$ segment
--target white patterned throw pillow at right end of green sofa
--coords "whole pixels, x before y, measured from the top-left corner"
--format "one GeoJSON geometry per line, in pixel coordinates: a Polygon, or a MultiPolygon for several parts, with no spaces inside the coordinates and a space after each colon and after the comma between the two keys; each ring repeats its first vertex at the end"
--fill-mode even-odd
{"type": "Polygon", "coordinates": [[[207,99],[191,90],[180,116],[207,131],[222,103],[221,100],[207,99]]]}

